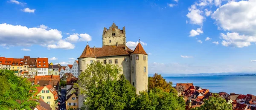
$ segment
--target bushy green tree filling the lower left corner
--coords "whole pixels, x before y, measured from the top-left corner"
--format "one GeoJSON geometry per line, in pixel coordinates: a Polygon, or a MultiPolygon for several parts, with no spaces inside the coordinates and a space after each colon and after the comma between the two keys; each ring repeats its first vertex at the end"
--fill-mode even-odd
{"type": "Polygon", "coordinates": [[[0,70],[0,110],[31,110],[38,102],[37,91],[25,78],[17,77],[13,71],[0,70]]]}

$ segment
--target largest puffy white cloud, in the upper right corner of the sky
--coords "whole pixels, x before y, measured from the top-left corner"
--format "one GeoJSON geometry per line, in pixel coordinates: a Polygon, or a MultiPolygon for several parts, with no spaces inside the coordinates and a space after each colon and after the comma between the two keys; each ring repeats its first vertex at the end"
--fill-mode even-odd
{"type": "Polygon", "coordinates": [[[256,36],[256,0],[228,2],[214,11],[211,18],[224,31],[256,36]]]}

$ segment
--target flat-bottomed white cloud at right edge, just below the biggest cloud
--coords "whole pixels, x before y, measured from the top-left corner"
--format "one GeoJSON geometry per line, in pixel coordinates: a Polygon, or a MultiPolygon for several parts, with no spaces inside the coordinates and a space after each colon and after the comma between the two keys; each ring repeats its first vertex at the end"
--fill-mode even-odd
{"type": "Polygon", "coordinates": [[[223,41],[221,42],[223,46],[232,46],[232,47],[247,47],[250,42],[256,42],[256,37],[239,35],[239,33],[227,33],[227,35],[221,33],[223,41]]]}

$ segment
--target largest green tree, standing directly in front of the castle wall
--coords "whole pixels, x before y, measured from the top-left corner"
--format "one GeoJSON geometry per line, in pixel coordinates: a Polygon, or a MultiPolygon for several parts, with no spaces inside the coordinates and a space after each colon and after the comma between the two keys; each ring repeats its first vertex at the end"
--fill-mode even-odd
{"type": "Polygon", "coordinates": [[[85,94],[84,107],[89,110],[131,110],[136,92],[130,82],[120,75],[118,65],[93,62],[79,76],[81,94],[85,94]]]}

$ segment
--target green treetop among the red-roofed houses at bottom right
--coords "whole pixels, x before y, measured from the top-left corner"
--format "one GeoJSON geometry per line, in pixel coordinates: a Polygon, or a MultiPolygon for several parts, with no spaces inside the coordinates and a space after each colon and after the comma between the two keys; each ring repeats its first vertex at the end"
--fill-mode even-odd
{"type": "Polygon", "coordinates": [[[227,104],[226,100],[215,93],[208,100],[205,100],[201,107],[194,110],[232,110],[232,104],[227,104]]]}

